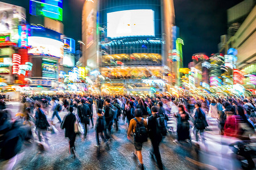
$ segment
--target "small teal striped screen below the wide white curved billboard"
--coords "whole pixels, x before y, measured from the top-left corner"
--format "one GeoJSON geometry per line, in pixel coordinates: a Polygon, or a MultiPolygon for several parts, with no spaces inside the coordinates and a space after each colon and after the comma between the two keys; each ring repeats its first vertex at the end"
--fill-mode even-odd
{"type": "Polygon", "coordinates": [[[48,78],[57,78],[59,73],[57,69],[57,61],[53,59],[43,58],[42,59],[42,76],[48,78]]]}

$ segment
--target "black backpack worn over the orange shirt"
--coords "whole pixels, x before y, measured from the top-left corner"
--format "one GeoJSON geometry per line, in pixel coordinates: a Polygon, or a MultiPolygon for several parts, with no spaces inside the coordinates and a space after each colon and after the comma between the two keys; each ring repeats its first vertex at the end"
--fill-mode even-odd
{"type": "Polygon", "coordinates": [[[147,129],[144,126],[143,118],[141,119],[141,122],[138,122],[137,118],[134,118],[134,120],[137,122],[135,133],[134,133],[134,139],[135,142],[143,143],[147,142],[147,129]]]}

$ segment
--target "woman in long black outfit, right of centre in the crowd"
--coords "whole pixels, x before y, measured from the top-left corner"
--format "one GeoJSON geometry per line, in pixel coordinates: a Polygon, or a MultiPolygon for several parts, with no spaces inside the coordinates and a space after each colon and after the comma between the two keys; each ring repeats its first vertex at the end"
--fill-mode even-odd
{"type": "Polygon", "coordinates": [[[179,105],[179,113],[175,115],[177,117],[177,141],[189,142],[189,114],[185,112],[185,106],[179,105]]]}

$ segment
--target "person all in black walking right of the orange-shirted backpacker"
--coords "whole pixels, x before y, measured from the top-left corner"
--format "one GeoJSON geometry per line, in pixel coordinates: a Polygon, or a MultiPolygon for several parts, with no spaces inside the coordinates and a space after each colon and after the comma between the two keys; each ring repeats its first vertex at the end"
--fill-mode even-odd
{"type": "Polygon", "coordinates": [[[166,127],[163,124],[163,122],[165,122],[164,118],[158,115],[158,110],[158,107],[152,107],[152,116],[148,118],[148,137],[150,137],[152,143],[152,151],[150,151],[149,154],[153,159],[155,155],[159,169],[163,169],[163,163],[159,152],[159,145],[163,139],[164,133],[166,135],[166,132],[164,131],[164,128],[166,130],[166,127]]]}

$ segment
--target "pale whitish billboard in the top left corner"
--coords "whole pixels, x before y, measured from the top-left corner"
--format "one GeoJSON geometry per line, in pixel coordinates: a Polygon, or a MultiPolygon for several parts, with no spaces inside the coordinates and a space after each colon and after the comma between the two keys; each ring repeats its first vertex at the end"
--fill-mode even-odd
{"type": "Polygon", "coordinates": [[[0,33],[11,33],[10,41],[18,42],[18,25],[26,23],[23,7],[0,2],[0,33]]]}

